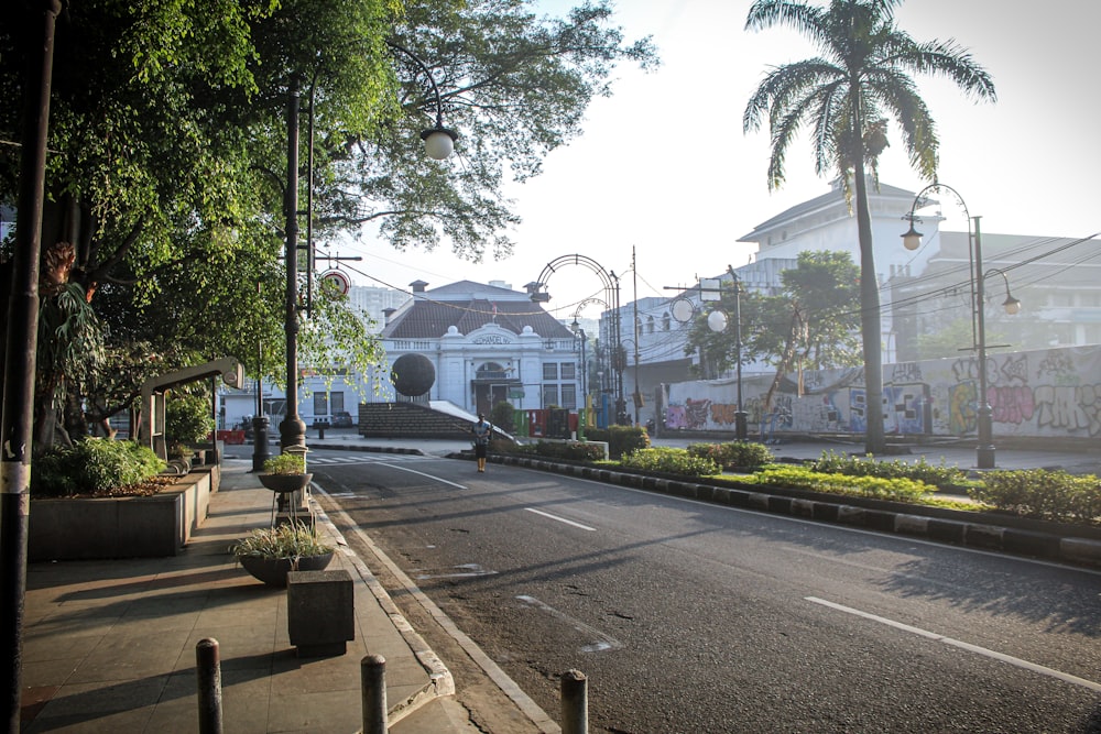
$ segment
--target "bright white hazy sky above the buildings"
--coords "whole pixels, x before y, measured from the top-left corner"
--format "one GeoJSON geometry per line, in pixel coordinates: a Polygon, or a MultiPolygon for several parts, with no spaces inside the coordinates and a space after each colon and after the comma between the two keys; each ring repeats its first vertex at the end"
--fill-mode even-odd
{"type": "MultiPolygon", "coordinates": [[[[544,0],[547,13],[570,3],[544,0]]],[[[514,254],[470,264],[444,243],[430,254],[399,253],[364,238],[334,254],[362,255],[347,270],[355,283],[405,288],[458,280],[500,280],[515,289],[544,266],[580,253],[614,271],[622,302],[667,297],[665,286],[713,276],[749,261],[735,240],[766,219],[828,190],[809,146],[787,156],[787,182],[766,185],[767,130],[742,132],[742,112],[768,66],[816,55],[783,29],[744,31],[750,0],[621,0],[617,24],[633,41],[653,35],[662,66],[622,66],[613,96],[593,102],[585,133],[550,154],[544,173],[510,195],[524,222],[514,254]]],[[[1049,0],[1033,12],[990,0],[908,0],[898,25],[918,42],[955,39],[994,79],[995,103],[975,103],[942,79],[915,77],[940,135],[940,182],[957,189],[984,232],[1086,237],[1101,231],[1101,133],[1098,132],[1098,0],[1049,0]]],[[[461,131],[460,131],[461,133],[461,131]]],[[[461,139],[459,140],[461,145],[461,139]]],[[[917,191],[898,133],[880,161],[884,184],[917,191]]],[[[944,229],[962,231],[962,210],[942,199],[944,229]],[[953,210],[959,210],[958,213],[953,210]]],[[[900,221],[900,234],[905,229],[900,221]]],[[[1099,242],[1101,245],[1101,242],[1099,242]]],[[[877,249],[902,247],[877,243],[877,249]]],[[[1099,250],[1101,255],[1101,250],[1099,250]]],[[[602,297],[585,267],[549,278],[547,308],[571,318],[575,304],[602,297]]],[[[596,318],[598,305],[582,317],[596,318]]]]}

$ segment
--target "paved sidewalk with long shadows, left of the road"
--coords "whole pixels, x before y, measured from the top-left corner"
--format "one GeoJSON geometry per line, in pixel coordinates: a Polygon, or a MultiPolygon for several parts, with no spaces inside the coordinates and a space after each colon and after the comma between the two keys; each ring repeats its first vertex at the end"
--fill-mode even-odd
{"type": "Polygon", "coordinates": [[[447,698],[450,672],[323,514],[338,548],[329,569],[356,580],[356,639],[339,657],[296,656],[286,592],[228,552],[271,521],[272,493],[250,468],[224,462],[209,516],[178,556],[29,566],[22,732],[198,731],[195,647],[207,637],[219,643],[227,732],[359,731],[369,654],[386,659],[391,732],[477,732],[447,698]]]}

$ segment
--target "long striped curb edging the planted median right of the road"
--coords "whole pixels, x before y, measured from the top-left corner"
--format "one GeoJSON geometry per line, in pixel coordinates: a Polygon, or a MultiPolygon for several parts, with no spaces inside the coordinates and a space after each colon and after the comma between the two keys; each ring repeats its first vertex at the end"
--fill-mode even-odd
{"type": "Polygon", "coordinates": [[[647,476],[593,467],[558,464],[546,459],[530,457],[498,454],[490,456],[490,460],[730,507],[793,515],[826,523],[852,525],[881,533],[923,537],[934,543],[1101,568],[1101,540],[1092,538],[1003,527],[971,518],[928,517],[893,508],[879,510],[849,505],[840,500],[830,501],[825,497],[822,500],[799,499],[768,494],[757,490],[750,491],[647,476]]]}

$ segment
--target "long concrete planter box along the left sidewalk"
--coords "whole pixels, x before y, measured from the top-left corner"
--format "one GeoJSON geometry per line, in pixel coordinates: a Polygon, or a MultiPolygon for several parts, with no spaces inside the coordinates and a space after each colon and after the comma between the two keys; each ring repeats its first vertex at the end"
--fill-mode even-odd
{"type": "Polygon", "coordinates": [[[218,491],[217,465],[195,471],[149,497],[31,501],[31,561],[175,556],[206,519],[218,491]]]}

